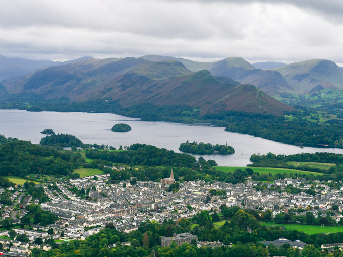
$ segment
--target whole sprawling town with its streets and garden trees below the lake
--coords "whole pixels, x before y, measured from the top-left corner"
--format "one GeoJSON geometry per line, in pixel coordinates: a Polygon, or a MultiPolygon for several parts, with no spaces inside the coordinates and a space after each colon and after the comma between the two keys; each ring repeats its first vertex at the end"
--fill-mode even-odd
{"type": "MultiPolygon", "coordinates": [[[[176,184],[173,170],[170,177],[160,182],[137,181],[131,177],[118,184],[108,184],[109,176],[98,174],[55,184],[34,185],[31,182],[31,186],[43,188],[48,198],[48,201],[40,204],[39,199],[28,194],[25,186],[1,188],[1,195],[8,195],[13,203],[1,205],[1,224],[10,228],[0,231],[2,250],[8,256],[27,256],[34,248],[48,251],[52,249],[52,243],[58,247],[69,240],[85,240],[106,227],[130,233],[146,220],[158,223],[180,219],[191,221],[199,212],[219,213],[223,206],[256,210],[260,216],[264,216],[264,220],[274,220],[280,224],[287,221],[282,214],[288,214],[289,221],[298,224],[326,226],[343,223],[340,213],[343,210],[343,188],[331,189],[319,180],[308,183],[303,178],[285,178],[264,184],[253,180],[238,184],[198,180],[177,183],[178,190],[170,191],[170,186],[176,184]],[[290,188],[299,192],[290,192],[290,188]],[[309,189],[313,194],[306,192],[309,189]],[[23,226],[23,218],[30,210],[27,207],[31,205],[39,205],[42,210],[55,215],[56,220],[47,225],[23,226]]],[[[191,232],[162,237],[161,245],[169,246],[176,238],[179,238],[176,240],[179,245],[190,243],[192,239],[196,239],[198,247],[223,245],[219,241],[200,241],[191,232]]],[[[266,245],[269,243],[272,242],[267,241],[266,245]]],[[[273,244],[277,246],[278,243],[273,244]]],[[[130,242],[123,242],[122,245],[130,245],[130,242]]],[[[306,244],[294,245],[302,249],[306,244]]],[[[108,247],[116,245],[109,244],[108,247]]]]}

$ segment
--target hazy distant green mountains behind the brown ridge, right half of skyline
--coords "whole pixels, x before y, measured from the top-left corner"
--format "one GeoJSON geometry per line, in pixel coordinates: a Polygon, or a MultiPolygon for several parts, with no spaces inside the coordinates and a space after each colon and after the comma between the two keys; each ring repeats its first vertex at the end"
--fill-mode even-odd
{"type": "MultiPolygon", "coordinates": [[[[214,62],[198,62],[183,58],[158,55],[145,55],[147,60],[177,60],[191,71],[202,69],[210,71],[213,76],[226,76],[243,84],[253,84],[274,96],[282,92],[311,94],[324,88],[343,90],[343,71],[330,60],[314,59],[294,62],[277,68],[256,69],[241,57],[230,57],[214,62]]],[[[272,67],[284,63],[257,63],[257,67],[272,67]],[[278,64],[277,64],[278,63],[278,64]]],[[[256,65],[256,63],[255,63],[256,65]]]]}

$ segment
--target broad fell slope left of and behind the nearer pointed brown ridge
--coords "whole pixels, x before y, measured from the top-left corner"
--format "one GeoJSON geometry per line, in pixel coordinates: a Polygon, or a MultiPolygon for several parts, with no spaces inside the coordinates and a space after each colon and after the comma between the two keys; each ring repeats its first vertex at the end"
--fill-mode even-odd
{"type": "Polygon", "coordinates": [[[46,98],[68,96],[74,100],[97,98],[103,85],[146,62],[140,58],[83,60],[49,67],[24,78],[4,81],[4,84],[11,94],[29,92],[46,98]]]}

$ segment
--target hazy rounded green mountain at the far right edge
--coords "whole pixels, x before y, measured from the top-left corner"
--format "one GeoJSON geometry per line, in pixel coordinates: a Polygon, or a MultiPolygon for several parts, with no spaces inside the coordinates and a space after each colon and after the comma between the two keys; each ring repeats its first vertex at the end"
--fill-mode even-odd
{"type": "Polygon", "coordinates": [[[324,88],[343,90],[343,71],[330,60],[314,59],[276,68],[298,94],[311,94],[324,88]]]}

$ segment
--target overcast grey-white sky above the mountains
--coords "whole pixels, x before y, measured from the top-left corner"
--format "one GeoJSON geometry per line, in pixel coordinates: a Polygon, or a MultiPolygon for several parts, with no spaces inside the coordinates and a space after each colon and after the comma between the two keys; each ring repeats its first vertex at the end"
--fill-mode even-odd
{"type": "Polygon", "coordinates": [[[0,55],[323,58],[343,66],[342,14],[341,0],[2,0],[0,55]]]}

